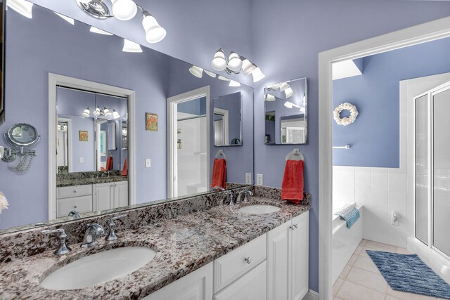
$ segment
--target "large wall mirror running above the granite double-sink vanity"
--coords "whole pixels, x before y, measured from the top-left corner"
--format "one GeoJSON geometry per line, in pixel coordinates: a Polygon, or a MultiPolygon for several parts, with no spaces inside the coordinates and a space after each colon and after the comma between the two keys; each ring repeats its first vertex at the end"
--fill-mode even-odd
{"type": "Polygon", "coordinates": [[[127,52],[123,38],[36,4],[32,18],[12,9],[6,17],[8,117],[0,132],[33,124],[41,142],[25,174],[0,162],[0,191],[9,202],[1,232],[212,193],[219,150],[226,188],[248,184],[252,88],[143,45],[127,52]],[[53,79],[59,77],[73,83],[53,79]],[[203,96],[179,103],[171,121],[169,99],[199,89],[203,96]],[[175,174],[168,169],[173,154],[175,174]],[[186,174],[179,193],[168,193],[173,176],[186,174]]]}

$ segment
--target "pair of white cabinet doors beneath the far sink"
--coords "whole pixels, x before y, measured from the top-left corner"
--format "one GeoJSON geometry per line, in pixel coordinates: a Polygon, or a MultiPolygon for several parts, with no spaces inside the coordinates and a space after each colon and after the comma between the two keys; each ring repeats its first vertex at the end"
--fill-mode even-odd
{"type": "Polygon", "coordinates": [[[267,299],[301,300],[307,294],[309,211],[267,233],[267,299]]]}

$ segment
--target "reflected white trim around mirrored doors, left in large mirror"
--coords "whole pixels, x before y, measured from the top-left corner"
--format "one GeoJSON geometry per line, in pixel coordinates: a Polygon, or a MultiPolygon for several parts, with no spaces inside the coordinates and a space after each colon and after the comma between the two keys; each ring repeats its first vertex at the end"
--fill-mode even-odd
{"type": "Polygon", "coordinates": [[[108,84],[99,84],[94,81],[87,81],[74,77],[68,77],[59,74],[49,73],[49,220],[56,218],[56,86],[67,86],[74,89],[83,89],[96,93],[107,93],[113,96],[128,98],[128,184],[129,184],[129,204],[136,204],[136,168],[135,155],[136,149],[134,141],[135,132],[135,96],[134,91],[122,89],[108,84]],[[53,150],[52,150],[53,149],[53,150]]]}

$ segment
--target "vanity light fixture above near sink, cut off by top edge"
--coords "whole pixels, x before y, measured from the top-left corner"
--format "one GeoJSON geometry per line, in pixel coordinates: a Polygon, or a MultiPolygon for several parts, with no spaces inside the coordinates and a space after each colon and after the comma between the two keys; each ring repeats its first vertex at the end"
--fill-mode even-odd
{"type": "MultiPolygon", "coordinates": [[[[11,0],[10,0],[11,1],[11,0]]],[[[14,0],[24,1],[24,0],[14,0]]],[[[117,18],[118,20],[127,21],[134,18],[138,8],[142,11],[142,26],[146,33],[146,41],[150,44],[158,43],[166,36],[166,30],[158,23],[158,21],[150,15],[148,11],[136,4],[133,0],[111,0],[112,11],[105,4],[104,0],[75,0],[79,8],[93,18],[105,20],[108,18],[117,18]]]]}

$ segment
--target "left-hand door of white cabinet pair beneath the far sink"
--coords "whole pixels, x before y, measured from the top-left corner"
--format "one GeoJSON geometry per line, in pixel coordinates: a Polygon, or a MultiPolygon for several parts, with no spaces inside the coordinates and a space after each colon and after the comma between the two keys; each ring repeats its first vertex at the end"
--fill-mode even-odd
{"type": "Polygon", "coordinates": [[[290,221],[267,233],[267,299],[288,300],[290,221]]]}

